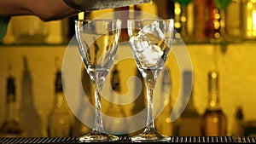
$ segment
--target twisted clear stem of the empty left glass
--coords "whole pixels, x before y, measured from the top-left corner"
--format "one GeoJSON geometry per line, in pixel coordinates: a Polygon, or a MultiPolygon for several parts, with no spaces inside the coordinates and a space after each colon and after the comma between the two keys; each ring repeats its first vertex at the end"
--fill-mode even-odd
{"type": "Polygon", "coordinates": [[[95,105],[96,105],[96,116],[95,116],[95,125],[94,130],[105,132],[102,123],[102,78],[98,78],[99,74],[96,72],[96,80],[95,80],[95,105]]]}

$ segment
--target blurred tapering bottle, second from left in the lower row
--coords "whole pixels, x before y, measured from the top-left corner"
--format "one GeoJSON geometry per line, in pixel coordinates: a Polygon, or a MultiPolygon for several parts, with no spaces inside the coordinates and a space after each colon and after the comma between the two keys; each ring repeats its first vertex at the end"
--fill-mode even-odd
{"type": "Polygon", "coordinates": [[[40,137],[43,136],[42,119],[34,105],[32,75],[28,68],[25,56],[23,57],[23,65],[24,71],[21,82],[20,124],[23,125],[24,136],[40,137]]]}

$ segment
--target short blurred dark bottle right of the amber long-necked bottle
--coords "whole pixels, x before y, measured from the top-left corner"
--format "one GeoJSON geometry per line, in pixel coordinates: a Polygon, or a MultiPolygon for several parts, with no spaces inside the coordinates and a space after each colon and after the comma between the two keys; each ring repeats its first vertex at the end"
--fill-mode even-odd
{"type": "Polygon", "coordinates": [[[232,128],[232,135],[234,136],[244,136],[244,118],[243,118],[243,112],[241,107],[237,107],[235,118],[234,118],[234,124],[232,128]]]}

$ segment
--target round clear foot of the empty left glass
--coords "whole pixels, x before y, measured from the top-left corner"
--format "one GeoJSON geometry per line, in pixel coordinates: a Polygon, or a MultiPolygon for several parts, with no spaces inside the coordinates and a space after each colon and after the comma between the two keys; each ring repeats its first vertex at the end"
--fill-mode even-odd
{"type": "Polygon", "coordinates": [[[92,130],[89,134],[79,137],[81,142],[119,141],[119,137],[92,130]]]}

